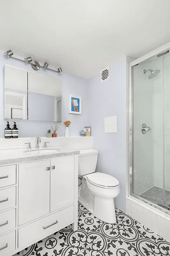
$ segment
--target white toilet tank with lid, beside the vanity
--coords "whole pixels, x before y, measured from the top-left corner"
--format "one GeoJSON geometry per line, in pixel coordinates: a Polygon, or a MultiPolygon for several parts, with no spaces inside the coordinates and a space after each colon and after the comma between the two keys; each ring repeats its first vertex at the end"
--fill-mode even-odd
{"type": "Polygon", "coordinates": [[[79,155],[79,175],[86,175],[96,170],[98,150],[80,150],[79,155]]]}

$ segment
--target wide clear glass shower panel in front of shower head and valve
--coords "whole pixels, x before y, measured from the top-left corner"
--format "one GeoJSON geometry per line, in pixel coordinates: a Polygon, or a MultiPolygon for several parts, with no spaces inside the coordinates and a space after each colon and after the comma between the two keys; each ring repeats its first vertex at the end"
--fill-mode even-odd
{"type": "Polygon", "coordinates": [[[133,67],[132,193],[154,204],[163,204],[163,92],[163,56],[133,67]]]}

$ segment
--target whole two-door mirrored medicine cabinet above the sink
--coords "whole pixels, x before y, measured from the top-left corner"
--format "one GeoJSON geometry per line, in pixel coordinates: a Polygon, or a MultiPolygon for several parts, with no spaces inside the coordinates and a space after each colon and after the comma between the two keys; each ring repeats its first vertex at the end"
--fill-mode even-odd
{"type": "Polygon", "coordinates": [[[4,65],[4,117],[61,122],[61,80],[4,65]]]}

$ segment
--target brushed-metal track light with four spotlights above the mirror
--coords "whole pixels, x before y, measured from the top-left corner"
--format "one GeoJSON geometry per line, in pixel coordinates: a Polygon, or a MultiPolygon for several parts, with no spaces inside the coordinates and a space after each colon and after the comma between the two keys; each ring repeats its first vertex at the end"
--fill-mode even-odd
{"type": "Polygon", "coordinates": [[[20,61],[22,61],[22,62],[26,62],[26,63],[28,63],[28,64],[31,64],[31,67],[32,67],[34,70],[39,70],[40,68],[44,68],[44,69],[48,69],[48,70],[57,72],[57,73],[59,73],[59,74],[62,74],[62,69],[61,69],[61,68],[58,68],[58,71],[57,71],[57,70],[50,69],[50,68],[48,68],[48,63],[47,63],[47,62],[44,63],[44,66],[40,66],[37,61],[32,61],[32,58],[31,58],[31,57],[27,57],[27,58],[25,58],[24,60],[21,60],[21,59],[12,57],[13,52],[12,52],[11,50],[9,50],[9,51],[7,51],[7,52],[4,52],[4,54],[5,54],[5,56],[6,56],[7,58],[12,58],[12,59],[15,59],[15,60],[20,60],[20,61]]]}

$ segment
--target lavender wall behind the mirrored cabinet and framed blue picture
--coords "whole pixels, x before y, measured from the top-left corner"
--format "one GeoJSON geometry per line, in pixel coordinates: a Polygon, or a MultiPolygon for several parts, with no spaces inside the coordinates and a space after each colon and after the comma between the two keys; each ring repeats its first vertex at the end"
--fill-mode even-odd
{"type": "MultiPolygon", "coordinates": [[[[17,57],[17,56],[15,56],[17,57]]],[[[23,59],[23,57],[19,57],[23,59]]],[[[22,68],[30,70],[33,69],[31,65],[18,60],[8,59],[4,56],[4,51],[0,51],[0,138],[4,138],[4,128],[6,127],[6,121],[10,122],[11,128],[13,127],[12,120],[4,119],[4,64],[14,66],[16,68],[22,68]]],[[[64,70],[64,67],[62,67],[64,70]]],[[[28,120],[17,120],[17,127],[19,129],[19,137],[45,137],[46,132],[50,129],[51,125],[59,125],[57,130],[58,136],[64,136],[65,125],[63,121],[70,120],[71,125],[69,127],[70,136],[79,136],[80,131],[83,129],[84,125],[87,125],[88,122],[88,111],[87,111],[87,102],[88,102],[88,91],[87,91],[87,79],[74,76],[68,73],[63,73],[59,75],[50,70],[44,70],[40,68],[39,72],[41,75],[50,76],[53,78],[62,80],[62,123],[56,122],[45,122],[45,121],[28,121],[28,120]],[[82,114],[75,115],[68,113],[68,95],[72,94],[75,96],[82,96],[82,114]]]]}

